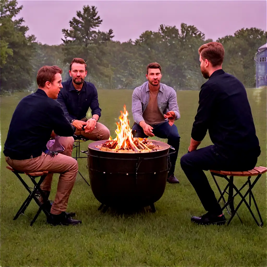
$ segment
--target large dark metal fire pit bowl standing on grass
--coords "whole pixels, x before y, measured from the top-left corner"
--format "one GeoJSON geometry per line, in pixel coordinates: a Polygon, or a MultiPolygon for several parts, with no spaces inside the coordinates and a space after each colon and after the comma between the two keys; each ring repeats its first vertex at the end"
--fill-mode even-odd
{"type": "Polygon", "coordinates": [[[99,210],[108,207],[135,209],[150,206],[165,190],[168,174],[170,145],[152,141],[160,148],[143,153],[122,153],[101,151],[95,146],[106,142],[101,140],[88,146],[88,170],[91,189],[101,203],[99,210]]]}

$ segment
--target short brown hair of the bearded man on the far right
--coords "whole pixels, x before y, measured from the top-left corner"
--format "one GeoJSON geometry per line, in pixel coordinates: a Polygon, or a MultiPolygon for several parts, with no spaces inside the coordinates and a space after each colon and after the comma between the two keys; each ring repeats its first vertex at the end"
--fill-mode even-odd
{"type": "Polygon", "coordinates": [[[207,59],[214,67],[222,65],[224,48],[221,43],[210,42],[204,44],[198,49],[198,53],[203,60],[207,59]]]}

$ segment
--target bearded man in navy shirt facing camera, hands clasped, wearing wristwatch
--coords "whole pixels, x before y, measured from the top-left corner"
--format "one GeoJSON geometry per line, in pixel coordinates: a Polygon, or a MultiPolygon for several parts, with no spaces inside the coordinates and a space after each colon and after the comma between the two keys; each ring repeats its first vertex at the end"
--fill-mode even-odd
{"type": "Polygon", "coordinates": [[[57,101],[62,105],[69,122],[76,128],[75,135],[93,141],[109,139],[109,129],[97,122],[101,116],[97,90],[95,85],[84,80],[87,69],[82,58],[73,58],[69,66],[69,75],[72,79],[62,83],[63,88],[58,94],[57,101]],[[86,113],[89,107],[92,118],[87,119],[86,113]]]}

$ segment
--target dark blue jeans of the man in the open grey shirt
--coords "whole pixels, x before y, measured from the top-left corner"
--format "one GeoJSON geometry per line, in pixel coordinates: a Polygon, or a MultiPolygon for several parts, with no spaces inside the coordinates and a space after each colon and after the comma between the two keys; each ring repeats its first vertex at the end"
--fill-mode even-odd
{"type": "MultiPolygon", "coordinates": [[[[175,149],[175,153],[170,155],[171,168],[168,173],[168,177],[174,174],[175,163],[178,156],[178,150],[180,145],[180,135],[175,125],[170,126],[168,122],[151,125],[153,127],[153,133],[158,138],[168,139],[168,144],[175,149]]],[[[144,133],[143,128],[139,124],[134,123],[132,127],[133,137],[148,138],[144,133]]],[[[170,151],[171,152],[171,151],[170,151]]]]}

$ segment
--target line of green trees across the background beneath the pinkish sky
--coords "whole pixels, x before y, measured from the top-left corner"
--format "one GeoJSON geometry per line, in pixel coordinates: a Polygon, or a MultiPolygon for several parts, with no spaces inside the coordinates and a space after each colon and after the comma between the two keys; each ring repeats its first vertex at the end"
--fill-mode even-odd
{"type": "MultiPolygon", "coordinates": [[[[41,66],[58,65],[69,79],[69,64],[74,57],[87,62],[87,81],[97,89],[134,89],[146,81],[146,66],[158,62],[162,66],[162,82],[175,90],[199,90],[205,82],[199,66],[198,48],[212,41],[194,25],[159,25],[158,31],[145,31],[136,40],[113,41],[113,30],[98,30],[102,19],[95,6],[84,6],[62,29],[62,44],[36,42],[34,35],[18,17],[23,6],[16,0],[2,0],[1,19],[1,94],[35,91],[36,75],[41,66]]],[[[266,43],[267,33],[257,28],[243,28],[234,35],[214,40],[225,48],[223,69],[244,83],[255,87],[254,55],[266,43]]]]}

